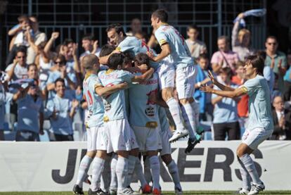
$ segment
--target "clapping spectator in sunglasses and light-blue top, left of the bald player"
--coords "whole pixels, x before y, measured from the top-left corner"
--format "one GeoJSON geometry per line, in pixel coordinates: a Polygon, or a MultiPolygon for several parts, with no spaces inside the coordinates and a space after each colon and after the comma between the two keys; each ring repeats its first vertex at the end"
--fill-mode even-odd
{"type": "Polygon", "coordinates": [[[77,87],[77,78],[74,74],[67,74],[67,68],[66,68],[66,60],[65,56],[58,55],[56,58],[54,58],[53,63],[55,64],[53,67],[53,71],[48,76],[48,81],[46,82],[46,89],[50,94],[48,94],[48,98],[51,99],[53,96],[55,96],[54,90],[56,89],[56,80],[58,78],[62,78],[65,80],[65,87],[67,90],[67,95],[70,94],[70,96],[75,97],[75,89],[77,87]]]}

